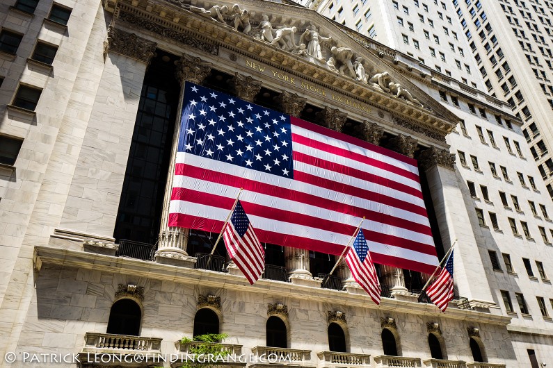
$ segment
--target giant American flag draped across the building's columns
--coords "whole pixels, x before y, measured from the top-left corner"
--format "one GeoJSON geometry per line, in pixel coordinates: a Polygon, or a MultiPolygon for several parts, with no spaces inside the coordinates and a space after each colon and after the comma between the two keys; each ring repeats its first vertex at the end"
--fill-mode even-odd
{"type": "Polygon", "coordinates": [[[240,187],[261,242],[342,253],[357,221],[373,261],[438,265],[417,162],[186,83],[169,226],[221,232],[240,187]]]}

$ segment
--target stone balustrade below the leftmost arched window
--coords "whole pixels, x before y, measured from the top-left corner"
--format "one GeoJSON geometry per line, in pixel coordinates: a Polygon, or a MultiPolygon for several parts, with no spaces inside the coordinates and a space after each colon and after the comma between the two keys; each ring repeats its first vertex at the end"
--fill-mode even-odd
{"type": "Polygon", "coordinates": [[[113,353],[121,351],[161,352],[161,337],[111,335],[109,333],[86,333],[83,352],[113,353]]]}

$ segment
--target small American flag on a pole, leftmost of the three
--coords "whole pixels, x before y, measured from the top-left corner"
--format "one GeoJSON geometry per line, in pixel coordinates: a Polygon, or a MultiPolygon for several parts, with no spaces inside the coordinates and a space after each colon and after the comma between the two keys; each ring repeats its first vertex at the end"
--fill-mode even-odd
{"type": "Polygon", "coordinates": [[[234,260],[250,284],[255,283],[265,267],[265,252],[253,232],[252,224],[240,201],[237,202],[227,222],[223,240],[230,258],[234,260]]]}

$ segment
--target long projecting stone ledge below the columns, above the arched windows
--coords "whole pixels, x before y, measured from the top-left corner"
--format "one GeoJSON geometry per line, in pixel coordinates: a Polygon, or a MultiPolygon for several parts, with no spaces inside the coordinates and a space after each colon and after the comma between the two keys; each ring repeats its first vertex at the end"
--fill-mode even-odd
{"type": "MultiPolygon", "coordinates": [[[[426,315],[431,317],[447,317],[449,319],[471,321],[474,323],[495,324],[506,326],[510,317],[492,315],[474,310],[448,308],[442,313],[432,304],[400,301],[398,299],[383,298],[380,306],[374,304],[367,294],[353,294],[337,290],[321,289],[292,283],[281,283],[265,279],[258,280],[250,285],[243,276],[234,276],[222,272],[191,269],[173,265],[163,265],[156,262],[136,260],[133,258],[119,258],[104,254],[61,249],[52,246],[35,246],[33,261],[35,269],[40,265],[57,265],[60,267],[74,267],[79,269],[94,269],[95,271],[113,272],[129,276],[143,277],[161,281],[174,281],[187,285],[202,285],[213,289],[226,289],[262,294],[265,296],[278,295],[280,298],[296,299],[298,296],[321,303],[336,303],[337,300],[344,306],[380,310],[382,312],[402,312],[410,315],[426,315]]],[[[40,271],[39,271],[40,277],[40,271]]]]}

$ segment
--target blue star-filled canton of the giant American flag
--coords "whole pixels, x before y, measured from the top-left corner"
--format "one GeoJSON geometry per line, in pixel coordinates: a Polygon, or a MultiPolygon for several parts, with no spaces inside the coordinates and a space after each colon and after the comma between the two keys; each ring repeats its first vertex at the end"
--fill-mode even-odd
{"type": "Polygon", "coordinates": [[[290,117],[186,83],[181,152],[294,178],[290,117]]]}

